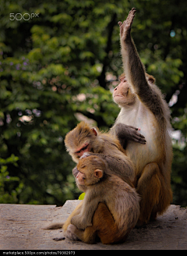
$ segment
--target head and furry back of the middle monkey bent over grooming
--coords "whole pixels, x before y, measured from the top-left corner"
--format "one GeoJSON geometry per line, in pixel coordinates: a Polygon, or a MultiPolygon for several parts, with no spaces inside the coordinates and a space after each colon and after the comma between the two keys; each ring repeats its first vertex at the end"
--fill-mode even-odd
{"type": "MultiPolygon", "coordinates": [[[[80,148],[82,144],[89,144],[89,154],[98,155],[108,162],[110,172],[121,177],[132,186],[134,180],[134,166],[129,158],[125,155],[125,150],[113,135],[108,133],[101,133],[97,130],[97,135],[88,124],[81,122],[75,129],[70,131],[65,137],[65,146],[72,159],[79,162],[79,157],[85,153],[77,156],[75,154],[76,148],[80,148]]],[[[76,173],[74,173],[76,176],[76,173]]]]}

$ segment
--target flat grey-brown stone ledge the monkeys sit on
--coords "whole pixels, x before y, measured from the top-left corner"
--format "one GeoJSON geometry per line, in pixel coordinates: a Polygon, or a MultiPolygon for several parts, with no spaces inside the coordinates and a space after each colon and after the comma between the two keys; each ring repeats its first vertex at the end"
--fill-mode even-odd
{"type": "Polygon", "coordinates": [[[64,222],[79,201],[55,205],[0,204],[0,249],[2,250],[125,250],[187,249],[187,209],[171,204],[157,221],[133,229],[124,244],[83,244],[52,240],[61,230],[44,230],[51,222],[64,222]]]}

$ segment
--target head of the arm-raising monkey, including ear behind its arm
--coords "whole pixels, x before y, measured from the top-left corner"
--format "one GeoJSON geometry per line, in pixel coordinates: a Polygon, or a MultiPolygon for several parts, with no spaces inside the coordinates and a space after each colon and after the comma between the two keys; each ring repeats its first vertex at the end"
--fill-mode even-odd
{"type": "MultiPolygon", "coordinates": [[[[120,83],[113,92],[115,103],[121,107],[133,104],[136,101],[136,94],[132,91],[132,87],[128,84],[124,73],[119,76],[119,80],[120,83]]],[[[155,78],[147,73],[146,80],[150,85],[155,83],[155,78]]]]}

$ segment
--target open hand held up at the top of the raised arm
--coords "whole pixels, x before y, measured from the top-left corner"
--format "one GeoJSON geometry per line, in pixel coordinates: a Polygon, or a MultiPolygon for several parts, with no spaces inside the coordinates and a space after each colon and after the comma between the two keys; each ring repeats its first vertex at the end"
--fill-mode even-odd
{"type": "Polygon", "coordinates": [[[132,8],[132,10],[129,12],[129,15],[126,18],[126,20],[123,23],[122,23],[122,21],[118,22],[118,25],[120,27],[120,37],[122,38],[123,41],[125,41],[128,32],[130,32],[130,30],[131,30],[135,12],[136,12],[136,9],[132,8]]]}

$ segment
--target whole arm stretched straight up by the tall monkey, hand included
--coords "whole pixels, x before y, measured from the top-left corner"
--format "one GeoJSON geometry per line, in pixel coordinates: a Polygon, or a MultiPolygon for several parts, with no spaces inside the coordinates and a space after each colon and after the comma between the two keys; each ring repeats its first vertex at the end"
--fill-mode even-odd
{"type": "MultiPolygon", "coordinates": [[[[136,46],[132,41],[130,33],[135,12],[136,9],[132,8],[127,19],[123,23],[121,21],[118,22],[125,76],[127,76],[127,81],[132,85],[140,101],[143,101],[143,103],[150,108],[154,116],[161,117],[163,116],[161,97],[159,97],[153,87],[150,87],[146,80],[146,72],[143,63],[139,59],[136,46]]],[[[152,76],[150,80],[153,80],[152,76]]]]}

